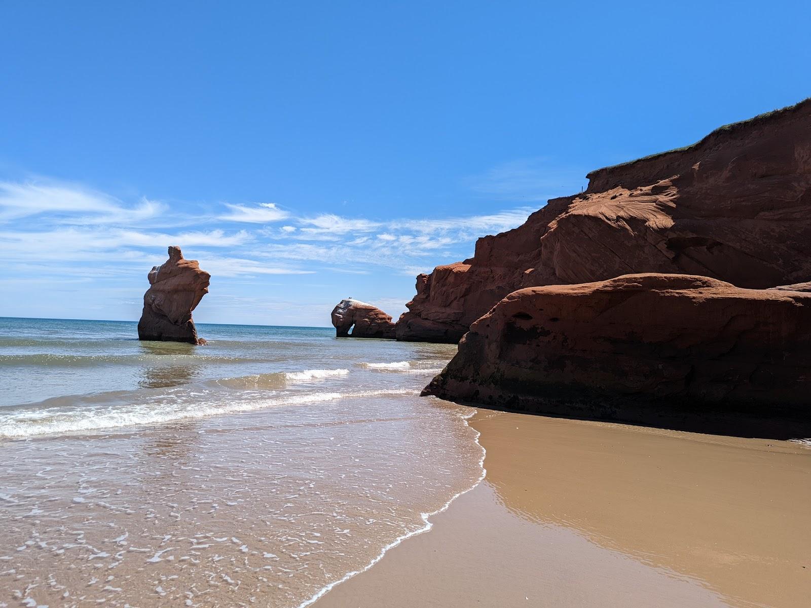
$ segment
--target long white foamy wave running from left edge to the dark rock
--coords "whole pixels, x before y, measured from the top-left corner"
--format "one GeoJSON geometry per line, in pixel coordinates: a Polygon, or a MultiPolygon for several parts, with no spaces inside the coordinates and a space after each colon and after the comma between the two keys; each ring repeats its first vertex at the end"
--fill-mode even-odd
{"type": "Polygon", "coordinates": [[[127,426],[157,425],[186,418],[250,412],[280,405],[307,405],[346,397],[418,395],[409,388],[356,392],[320,392],[275,399],[187,401],[151,403],[92,409],[45,409],[2,414],[0,437],[19,439],[36,435],[62,435],[92,430],[113,430],[127,426]]]}

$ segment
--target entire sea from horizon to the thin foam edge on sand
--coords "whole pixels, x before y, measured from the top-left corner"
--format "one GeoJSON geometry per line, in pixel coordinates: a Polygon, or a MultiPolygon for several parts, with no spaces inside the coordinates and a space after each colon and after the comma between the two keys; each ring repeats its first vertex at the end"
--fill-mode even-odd
{"type": "Polygon", "coordinates": [[[307,606],[482,476],[456,347],[0,318],[0,606],[307,606]]]}

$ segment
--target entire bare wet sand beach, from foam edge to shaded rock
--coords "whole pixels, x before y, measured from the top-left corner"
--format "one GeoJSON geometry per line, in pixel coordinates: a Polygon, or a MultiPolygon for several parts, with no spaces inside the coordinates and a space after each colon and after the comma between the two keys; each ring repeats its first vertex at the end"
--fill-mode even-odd
{"type": "Polygon", "coordinates": [[[811,449],[517,413],[486,480],[317,608],[811,601],[811,449]]]}

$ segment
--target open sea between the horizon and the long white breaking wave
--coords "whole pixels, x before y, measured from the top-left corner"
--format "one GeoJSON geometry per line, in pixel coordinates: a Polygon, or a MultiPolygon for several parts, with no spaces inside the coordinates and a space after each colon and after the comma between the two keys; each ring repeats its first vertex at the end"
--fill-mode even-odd
{"type": "Polygon", "coordinates": [[[452,353],[441,345],[337,340],[332,328],[200,324],[198,331],[207,346],[142,342],[136,323],[127,321],[0,319],[0,437],[34,435],[35,420],[39,430],[59,430],[43,412],[69,411],[71,426],[64,430],[92,430],[102,413],[138,409],[139,420],[148,422],[150,406],[162,419],[169,405],[188,405],[193,415],[198,401],[212,398],[300,396],[301,384],[285,382],[284,374],[307,370],[338,381],[353,368],[346,379],[351,386],[397,388],[396,376],[363,374],[358,365],[417,359],[411,371],[436,371],[452,353]],[[31,424],[15,426],[28,419],[25,412],[34,416],[31,424]],[[83,412],[86,426],[79,423],[83,412]]]}

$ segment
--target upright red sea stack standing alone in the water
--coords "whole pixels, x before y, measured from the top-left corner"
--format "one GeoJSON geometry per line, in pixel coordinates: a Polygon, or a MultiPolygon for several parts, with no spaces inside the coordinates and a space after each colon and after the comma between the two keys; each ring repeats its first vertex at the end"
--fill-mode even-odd
{"type": "Polygon", "coordinates": [[[205,344],[197,337],[191,311],[208,293],[211,275],[195,259],[185,259],[180,247],[169,246],[169,259],[149,271],[144,312],[138,322],[139,340],[205,344]]]}

